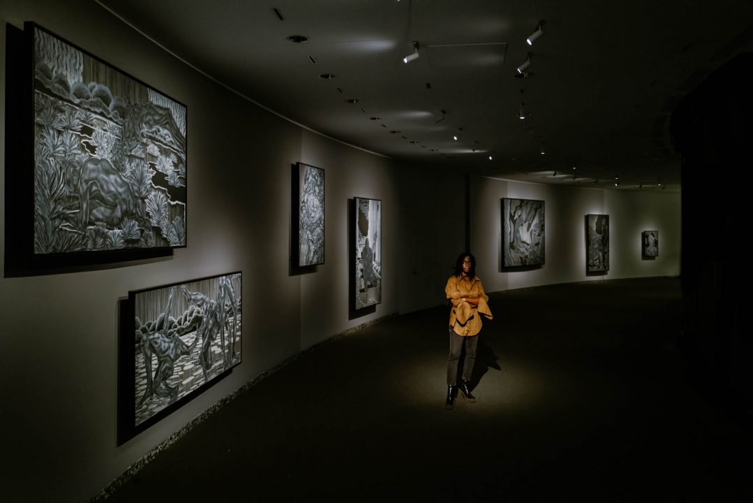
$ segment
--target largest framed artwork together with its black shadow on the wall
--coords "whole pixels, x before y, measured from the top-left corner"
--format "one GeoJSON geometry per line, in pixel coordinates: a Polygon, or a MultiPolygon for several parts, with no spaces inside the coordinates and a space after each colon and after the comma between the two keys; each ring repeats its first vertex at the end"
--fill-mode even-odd
{"type": "Polygon", "coordinates": [[[187,107],[36,23],[8,31],[8,275],[185,247],[187,107]]]}

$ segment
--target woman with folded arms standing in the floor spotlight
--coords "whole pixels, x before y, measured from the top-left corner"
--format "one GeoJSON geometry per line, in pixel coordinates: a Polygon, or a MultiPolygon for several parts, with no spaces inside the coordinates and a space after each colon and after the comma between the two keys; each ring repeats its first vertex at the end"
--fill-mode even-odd
{"type": "Polygon", "coordinates": [[[492,319],[492,311],[486,303],[489,297],[483,291],[481,280],[476,277],[476,259],[471,253],[461,253],[455,262],[455,274],[444,287],[447,299],[453,303],[450,310],[450,357],[447,358],[447,400],[445,409],[455,406],[455,396],[460,389],[465,401],[475,402],[476,397],[468,389],[468,381],[476,362],[476,345],[481,330],[481,315],[492,319]],[[460,386],[457,385],[458,360],[465,345],[465,361],[460,386]]]}

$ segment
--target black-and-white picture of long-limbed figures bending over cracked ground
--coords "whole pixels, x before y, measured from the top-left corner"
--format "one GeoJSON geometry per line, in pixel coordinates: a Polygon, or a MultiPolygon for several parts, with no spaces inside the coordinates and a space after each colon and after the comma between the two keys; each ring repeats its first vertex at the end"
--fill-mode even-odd
{"type": "Polygon", "coordinates": [[[139,425],[241,360],[241,273],[131,294],[139,425]]]}

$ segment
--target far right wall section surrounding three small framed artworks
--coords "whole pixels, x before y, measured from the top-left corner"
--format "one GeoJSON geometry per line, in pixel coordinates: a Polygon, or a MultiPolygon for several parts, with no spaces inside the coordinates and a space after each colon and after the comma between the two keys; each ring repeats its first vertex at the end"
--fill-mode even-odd
{"type": "Polygon", "coordinates": [[[680,274],[680,195],[660,190],[583,189],[471,177],[471,253],[489,292],[544,284],[680,274]],[[546,263],[504,268],[501,199],[544,201],[546,263]],[[609,215],[610,269],[586,274],[585,216],[609,215]],[[641,257],[641,232],[659,231],[659,256],[641,257]]]}

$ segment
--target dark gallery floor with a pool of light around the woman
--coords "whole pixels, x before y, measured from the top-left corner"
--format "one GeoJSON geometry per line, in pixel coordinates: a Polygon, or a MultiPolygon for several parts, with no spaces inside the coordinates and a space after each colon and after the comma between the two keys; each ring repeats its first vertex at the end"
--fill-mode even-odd
{"type": "Polygon", "coordinates": [[[107,501],[753,501],[753,431],[691,385],[679,281],[491,296],[477,403],[444,409],[447,308],[322,345],[107,501]]]}

